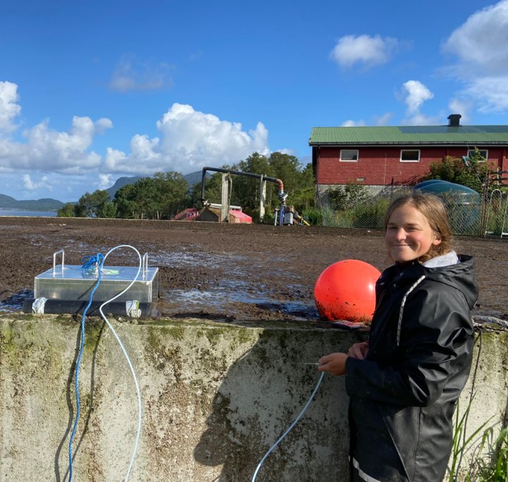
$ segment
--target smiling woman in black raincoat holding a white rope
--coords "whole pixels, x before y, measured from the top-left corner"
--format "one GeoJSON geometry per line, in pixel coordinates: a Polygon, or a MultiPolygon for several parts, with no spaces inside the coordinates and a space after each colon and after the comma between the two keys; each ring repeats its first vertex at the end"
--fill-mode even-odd
{"type": "Polygon", "coordinates": [[[451,238],[439,198],[395,200],[385,215],[395,264],[377,280],[369,341],[319,361],[318,370],[346,375],[351,481],[444,478],[478,298],[473,259],[456,255],[451,238]]]}

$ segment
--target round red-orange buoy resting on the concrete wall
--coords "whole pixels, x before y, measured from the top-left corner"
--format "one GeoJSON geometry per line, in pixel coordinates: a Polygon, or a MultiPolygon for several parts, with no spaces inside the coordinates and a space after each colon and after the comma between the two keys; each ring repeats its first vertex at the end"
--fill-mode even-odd
{"type": "Polygon", "coordinates": [[[375,310],[375,282],[381,272],[360,260],[337,261],[317,278],[314,298],[328,320],[369,322],[375,310]]]}

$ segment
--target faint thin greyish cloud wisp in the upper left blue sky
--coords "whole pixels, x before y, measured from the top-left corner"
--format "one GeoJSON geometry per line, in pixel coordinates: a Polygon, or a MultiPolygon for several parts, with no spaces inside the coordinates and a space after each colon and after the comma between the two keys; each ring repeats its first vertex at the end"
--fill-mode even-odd
{"type": "Polygon", "coordinates": [[[124,55],[109,80],[109,88],[118,92],[171,88],[171,66],[164,62],[142,61],[124,55]]]}

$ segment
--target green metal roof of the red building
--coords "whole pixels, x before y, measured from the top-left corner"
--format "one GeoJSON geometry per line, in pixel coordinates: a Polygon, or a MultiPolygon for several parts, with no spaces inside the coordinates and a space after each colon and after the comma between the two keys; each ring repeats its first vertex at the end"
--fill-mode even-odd
{"type": "Polygon", "coordinates": [[[508,145],[508,126],[313,127],[309,145],[508,145]]]}

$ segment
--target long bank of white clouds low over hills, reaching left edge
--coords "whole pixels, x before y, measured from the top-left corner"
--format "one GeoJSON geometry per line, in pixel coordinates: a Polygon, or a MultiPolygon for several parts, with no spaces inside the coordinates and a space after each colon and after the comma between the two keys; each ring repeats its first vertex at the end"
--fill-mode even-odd
{"type": "Polygon", "coordinates": [[[225,121],[184,104],[173,104],[157,121],[158,137],[133,135],[128,152],[108,147],[104,159],[92,150],[92,145],[96,135],[112,128],[113,123],[106,118],[93,121],[87,116],[74,116],[67,131],[54,130],[45,119],[25,128],[21,140],[15,140],[16,117],[21,110],[18,85],[4,82],[0,89],[3,193],[35,198],[37,192],[39,197],[46,197],[53,190],[56,198],[75,200],[85,191],[111,186],[114,174],[187,174],[205,165],[238,162],[255,151],[270,153],[268,131],[261,122],[245,131],[241,123],[225,121]]]}

